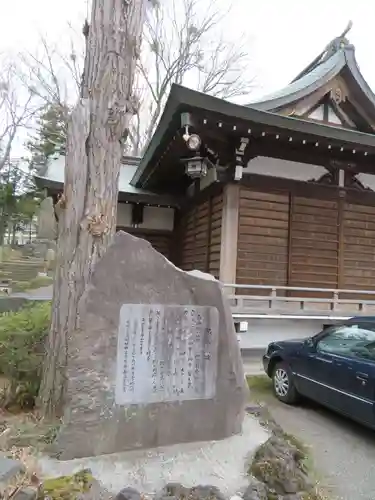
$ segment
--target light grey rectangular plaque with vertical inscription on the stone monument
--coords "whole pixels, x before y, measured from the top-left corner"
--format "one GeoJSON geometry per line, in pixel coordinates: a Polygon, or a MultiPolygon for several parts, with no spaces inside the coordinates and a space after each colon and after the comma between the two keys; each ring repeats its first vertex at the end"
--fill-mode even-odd
{"type": "Polygon", "coordinates": [[[116,404],[212,399],[218,328],[216,307],[122,305],[116,404]]]}

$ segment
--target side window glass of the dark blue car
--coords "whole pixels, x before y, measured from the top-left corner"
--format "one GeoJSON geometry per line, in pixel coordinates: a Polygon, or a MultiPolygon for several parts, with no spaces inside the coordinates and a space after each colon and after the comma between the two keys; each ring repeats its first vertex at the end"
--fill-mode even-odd
{"type": "Polygon", "coordinates": [[[375,324],[334,327],[317,343],[317,350],[375,361],[375,324]]]}

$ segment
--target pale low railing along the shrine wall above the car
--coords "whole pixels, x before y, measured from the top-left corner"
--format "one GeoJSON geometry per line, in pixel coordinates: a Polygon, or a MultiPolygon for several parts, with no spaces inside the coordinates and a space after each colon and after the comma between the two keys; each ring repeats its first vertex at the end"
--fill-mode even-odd
{"type": "Polygon", "coordinates": [[[224,286],[234,316],[375,316],[375,290],[235,284],[224,286]]]}

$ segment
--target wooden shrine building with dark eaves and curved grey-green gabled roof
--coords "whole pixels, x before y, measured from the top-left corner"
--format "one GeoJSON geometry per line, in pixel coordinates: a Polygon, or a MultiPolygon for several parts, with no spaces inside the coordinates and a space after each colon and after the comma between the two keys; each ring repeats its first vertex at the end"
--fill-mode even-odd
{"type": "MultiPolygon", "coordinates": [[[[37,176],[54,197],[63,182],[64,158],[37,176]]],[[[375,291],[375,95],[354,46],[344,33],[249,105],[174,85],[144,156],[124,157],[119,190],[118,229],[182,269],[375,291]]]]}

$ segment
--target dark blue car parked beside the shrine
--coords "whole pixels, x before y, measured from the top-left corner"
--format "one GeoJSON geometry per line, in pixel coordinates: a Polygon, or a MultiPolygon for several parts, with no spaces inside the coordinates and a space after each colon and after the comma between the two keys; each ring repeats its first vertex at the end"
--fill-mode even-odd
{"type": "Polygon", "coordinates": [[[315,400],[375,428],[375,317],[352,318],[314,337],[271,342],[263,366],[275,396],[315,400]]]}

